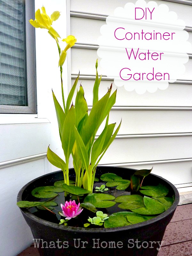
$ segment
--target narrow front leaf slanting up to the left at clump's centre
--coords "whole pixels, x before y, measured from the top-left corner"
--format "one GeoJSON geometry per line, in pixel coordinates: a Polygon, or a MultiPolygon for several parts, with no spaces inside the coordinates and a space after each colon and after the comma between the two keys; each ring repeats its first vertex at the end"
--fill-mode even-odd
{"type": "Polygon", "coordinates": [[[74,129],[75,129],[76,146],[77,146],[78,154],[79,154],[80,159],[85,167],[85,170],[88,171],[89,160],[88,160],[87,150],[85,148],[84,142],[83,142],[80,134],[78,133],[76,127],[74,129]]]}

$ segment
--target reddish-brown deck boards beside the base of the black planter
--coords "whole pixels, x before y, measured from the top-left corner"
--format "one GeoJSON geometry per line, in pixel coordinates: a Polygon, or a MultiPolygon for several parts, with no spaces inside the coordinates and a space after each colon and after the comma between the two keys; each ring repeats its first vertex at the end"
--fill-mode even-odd
{"type": "MultiPolygon", "coordinates": [[[[163,241],[158,256],[192,256],[192,204],[177,207],[163,241]]],[[[17,256],[39,256],[39,253],[31,246],[17,256]]]]}

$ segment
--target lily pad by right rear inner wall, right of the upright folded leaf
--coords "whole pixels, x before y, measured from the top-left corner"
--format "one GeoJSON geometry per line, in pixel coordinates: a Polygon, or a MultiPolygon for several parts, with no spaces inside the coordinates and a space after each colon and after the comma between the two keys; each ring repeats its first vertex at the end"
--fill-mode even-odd
{"type": "Polygon", "coordinates": [[[155,196],[155,197],[163,197],[169,193],[169,189],[160,183],[158,186],[141,187],[139,191],[145,196],[155,196]]]}

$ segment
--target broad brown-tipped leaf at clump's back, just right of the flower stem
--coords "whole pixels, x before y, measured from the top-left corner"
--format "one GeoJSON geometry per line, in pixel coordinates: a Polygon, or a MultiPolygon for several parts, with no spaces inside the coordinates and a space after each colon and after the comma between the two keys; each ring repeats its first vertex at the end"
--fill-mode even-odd
{"type": "Polygon", "coordinates": [[[76,120],[76,127],[78,127],[79,122],[85,116],[88,111],[87,102],[84,98],[84,90],[83,87],[80,86],[79,91],[76,95],[75,100],[75,120],[76,120]]]}

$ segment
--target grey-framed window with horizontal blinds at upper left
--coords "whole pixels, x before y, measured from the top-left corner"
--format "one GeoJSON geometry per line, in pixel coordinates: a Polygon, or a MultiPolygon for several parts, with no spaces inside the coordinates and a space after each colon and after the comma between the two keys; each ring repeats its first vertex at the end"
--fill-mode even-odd
{"type": "Polygon", "coordinates": [[[33,1],[0,0],[0,113],[36,113],[33,16],[33,1]]]}

